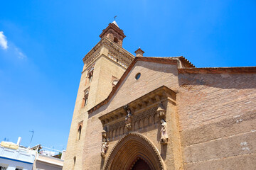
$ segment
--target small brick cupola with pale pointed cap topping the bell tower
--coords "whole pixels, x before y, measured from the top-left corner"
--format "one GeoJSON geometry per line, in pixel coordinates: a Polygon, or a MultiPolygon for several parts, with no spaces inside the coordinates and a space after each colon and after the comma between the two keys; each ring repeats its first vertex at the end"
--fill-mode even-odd
{"type": "Polygon", "coordinates": [[[122,41],[126,37],[124,35],[124,31],[119,28],[116,21],[113,21],[112,23],[107,26],[104,30],[102,30],[102,33],[100,34],[100,38],[107,37],[113,42],[117,43],[117,45],[120,45],[122,47],[122,41]]]}

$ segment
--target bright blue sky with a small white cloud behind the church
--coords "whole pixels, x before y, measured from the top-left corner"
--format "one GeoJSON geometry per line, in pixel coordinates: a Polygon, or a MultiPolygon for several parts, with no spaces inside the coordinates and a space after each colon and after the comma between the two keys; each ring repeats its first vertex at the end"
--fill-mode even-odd
{"type": "Polygon", "coordinates": [[[256,65],[256,1],[2,1],[0,140],[65,149],[82,57],[117,15],[145,56],[183,55],[196,67],[256,65]]]}

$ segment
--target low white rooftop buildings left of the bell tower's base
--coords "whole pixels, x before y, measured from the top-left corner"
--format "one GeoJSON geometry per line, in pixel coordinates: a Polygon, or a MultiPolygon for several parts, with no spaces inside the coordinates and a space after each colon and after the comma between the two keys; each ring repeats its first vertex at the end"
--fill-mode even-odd
{"type": "Polygon", "coordinates": [[[20,142],[21,137],[18,138],[16,144],[1,142],[0,170],[62,170],[65,151],[60,152],[55,149],[50,151],[47,147],[45,150],[41,145],[26,148],[21,147],[20,142]]]}

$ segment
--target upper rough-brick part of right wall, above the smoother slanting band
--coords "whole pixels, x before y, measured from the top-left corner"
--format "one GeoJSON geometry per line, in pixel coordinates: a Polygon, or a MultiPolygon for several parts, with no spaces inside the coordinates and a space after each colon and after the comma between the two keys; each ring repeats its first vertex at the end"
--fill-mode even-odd
{"type": "Polygon", "coordinates": [[[255,111],[256,74],[179,74],[181,130],[255,111]]]}

